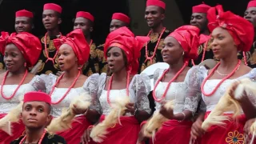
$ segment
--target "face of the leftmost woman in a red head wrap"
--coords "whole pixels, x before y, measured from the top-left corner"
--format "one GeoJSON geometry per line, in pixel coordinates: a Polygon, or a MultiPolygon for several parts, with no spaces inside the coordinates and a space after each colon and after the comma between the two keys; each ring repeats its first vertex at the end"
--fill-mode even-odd
{"type": "Polygon", "coordinates": [[[6,69],[13,73],[24,67],[26,62],[22,51],[18,50],[18,47],[13,43],[6,46],[3,60],[6,64],[6,69]]]}

